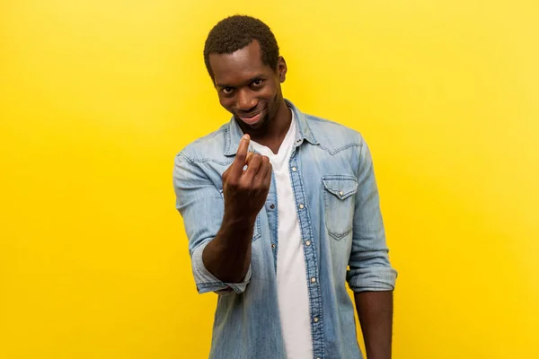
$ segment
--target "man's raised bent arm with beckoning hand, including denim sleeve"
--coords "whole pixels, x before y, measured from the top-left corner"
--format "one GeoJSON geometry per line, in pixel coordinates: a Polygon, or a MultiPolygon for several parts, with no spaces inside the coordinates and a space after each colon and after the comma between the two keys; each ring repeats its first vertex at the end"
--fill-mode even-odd
{"type": "Polygon", "coordinates": [[[190,241],[199,293],[243,293],[251,277],[252,231],[270,188],[271,170],[268,158],[247,155],[248,145],[247,137],[223,174],[225,201],[195,162],[182,153],[176,157],[176,206],[190,241]]]}

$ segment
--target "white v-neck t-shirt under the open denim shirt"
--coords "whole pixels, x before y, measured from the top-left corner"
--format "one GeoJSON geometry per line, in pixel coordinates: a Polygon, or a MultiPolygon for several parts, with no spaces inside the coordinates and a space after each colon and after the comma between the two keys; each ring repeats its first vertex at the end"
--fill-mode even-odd
{"type": "Polygon", "coordinates": [[[313,339],[309,293],[296,201],[290,179],[290,155],[296,139],[296,118],[274,154],[270,148],[251,142],[252,148],[270,158],[277,188],[278,252],[277,292],[280,321],[288,359],[312,359],[313,339]]]}

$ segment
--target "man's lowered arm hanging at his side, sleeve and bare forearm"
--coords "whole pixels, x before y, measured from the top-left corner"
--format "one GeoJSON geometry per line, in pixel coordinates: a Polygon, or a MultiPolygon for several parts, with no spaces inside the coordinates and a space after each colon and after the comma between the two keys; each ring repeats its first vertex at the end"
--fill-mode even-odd
{"type": "Polygon", "coordinates": [[[373,163],[362,141],[358,165],[358,193],[347,279],[354,292],[367,358],[391,358],[393,288],[396,271],[385,244],[373,163]]]}

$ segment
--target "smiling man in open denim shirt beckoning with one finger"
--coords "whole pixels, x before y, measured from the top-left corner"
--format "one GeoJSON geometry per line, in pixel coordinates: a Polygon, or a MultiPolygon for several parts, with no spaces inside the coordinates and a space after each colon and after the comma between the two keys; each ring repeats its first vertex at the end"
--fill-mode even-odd
{"type": "Polygon", "coordinates": [[[199,293],[218,294],[211,358],[391,357],[393,287],[367,144],[283,98],[270,28],[209,32],[208,73],[233,115],[176,157],[176,206],[199,293]]]}

